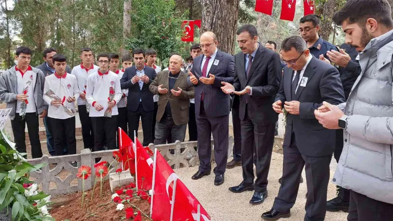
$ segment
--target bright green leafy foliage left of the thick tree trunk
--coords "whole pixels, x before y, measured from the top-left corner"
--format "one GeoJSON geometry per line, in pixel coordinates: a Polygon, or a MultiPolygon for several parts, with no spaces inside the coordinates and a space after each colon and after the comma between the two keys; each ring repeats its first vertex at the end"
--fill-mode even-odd
{"type": "Polygon", "coordinates": [[[132,37],[128,39],[128,48],[142,50],[154,48],[157,57],[167,65],[171,52],[186,55],[187,43],[181,41],[181,24],[186,14],[176,11],[174,0],[133,0],[132,37]]]}

